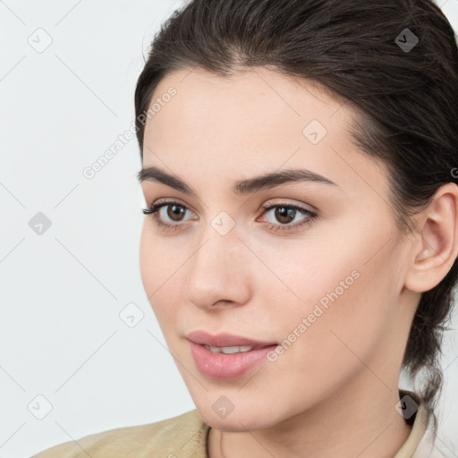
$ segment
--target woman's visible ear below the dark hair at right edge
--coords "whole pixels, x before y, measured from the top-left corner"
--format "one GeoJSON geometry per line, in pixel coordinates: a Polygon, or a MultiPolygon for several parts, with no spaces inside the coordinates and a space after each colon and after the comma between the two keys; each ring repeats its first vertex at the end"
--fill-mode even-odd
{"type": "Polygon", "coordinates": [[[405,287],[417,293],[431,290],[446,276],[458,255],[458,186],[447,182],[418,215],[418,238],[405,287]]]}

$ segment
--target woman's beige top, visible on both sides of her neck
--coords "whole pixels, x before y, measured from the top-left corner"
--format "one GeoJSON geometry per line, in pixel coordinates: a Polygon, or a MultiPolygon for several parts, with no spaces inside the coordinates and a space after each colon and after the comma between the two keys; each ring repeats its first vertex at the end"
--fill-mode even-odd
{"type": "MultiPolygon", "coordinates": [[[[400,394],[416,394],[402,390],[400,394]]],[[[420,403],[412,415],[411,434],[394,458],[441,458],[428,428],[428,411],[420,403]]],[[[407,420],[406,420],[407,421],[407,420]]],[[[32,458],[208,458],[210,427],[194,409],[176,417],[145,425],[115,428],[55,445],[32,458]]]]}

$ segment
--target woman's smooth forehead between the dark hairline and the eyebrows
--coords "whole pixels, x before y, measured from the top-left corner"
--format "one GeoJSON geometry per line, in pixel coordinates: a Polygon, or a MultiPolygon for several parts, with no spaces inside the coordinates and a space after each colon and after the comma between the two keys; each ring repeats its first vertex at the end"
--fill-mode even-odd
{"type": "Polygon", "coordinates": [[[378,182],[385,191],[384,167],[352,143],[356,109],[316,81],[264,67],[231,77],[188,69],[160,81],[151,104],[161,101],[146,124],[144,165],[165,163],[199,181],[209,180],[206,172],[235,180],[282,165],[306,167],[343,188],[368,191],[367,182],[378,182]],[[171,88],[174,96],[163,97],[171,88]]]}

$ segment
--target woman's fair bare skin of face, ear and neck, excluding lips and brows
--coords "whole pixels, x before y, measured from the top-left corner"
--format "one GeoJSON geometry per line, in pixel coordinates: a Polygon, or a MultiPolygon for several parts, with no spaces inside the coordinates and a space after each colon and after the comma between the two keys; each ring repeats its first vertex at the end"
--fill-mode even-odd
{"type": "MultiPolygon", "coordinates": [[[[398,381],[420,293],[445,276],[458,252],[457,187],[447,183],[399,231],[386,169],[361,153],[348,128],[357,115],[312,81],[259,67],[231,79],[201,69],[174,72],[153,99],[177,94],[146,124],[143,166],[187,182],[196,197],[144,181],[147,205],[173,199],[182,222],[162,208],[161,229],[145,216],[140,271],[145,291],[199,413],[212,428],[211,458],[394,456],[411,432],[395,411],[398,381]],[[302,130],[316,119],[327,135],[302,130]],[[307,168],[321,182],[295,182],[234,195],[242,178],[307,168]],[[289,232],[275,209],[317,209],[289,232]],[[233,219],[222,236],[211,221],[233,219]],[[195,329],[281,343],[315,304],[356,270],[360,277],[274,362],[234,380],[204,377],[186,335],[195,329]],[[225,395],[233,411],[212,404],[225,395]]],[[[170,208],[169,208],[170,209],[170,208]]],[[[308,216],[297,213],[290,226],[308,216]]]]}

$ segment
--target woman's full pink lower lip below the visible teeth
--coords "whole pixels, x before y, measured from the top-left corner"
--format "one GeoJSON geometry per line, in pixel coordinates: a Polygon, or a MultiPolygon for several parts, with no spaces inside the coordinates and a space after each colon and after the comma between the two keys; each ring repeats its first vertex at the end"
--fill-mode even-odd
{"type": "Polygon", "coordinates": [[[200,372],[208,378],[228,380],[241,377],[245,372],[256,366],[260,360],[266,359],[267,353],[277,345],[238,352],[232,354],[210,352],[203,345],[191,342],[191,353],[200,372]]]}

